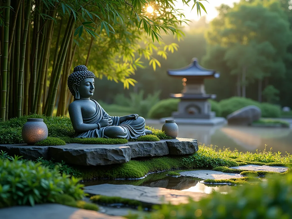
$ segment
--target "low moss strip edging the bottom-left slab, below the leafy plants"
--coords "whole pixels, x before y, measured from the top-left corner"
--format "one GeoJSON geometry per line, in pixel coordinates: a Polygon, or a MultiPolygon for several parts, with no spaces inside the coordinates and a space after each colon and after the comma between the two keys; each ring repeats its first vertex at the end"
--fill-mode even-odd
{"type": "Polygon", "coordinates": [[[76,201],[73,197],[67,194],[60,194],[55,199],[55,203],[67,205],[75,208],[83,208],[86,210],[98,211],[99,208],[96,204],[88,203],[86,201],[76,201]]]}

